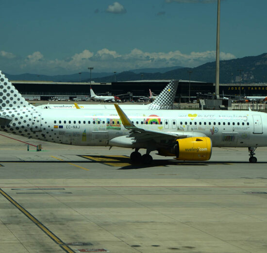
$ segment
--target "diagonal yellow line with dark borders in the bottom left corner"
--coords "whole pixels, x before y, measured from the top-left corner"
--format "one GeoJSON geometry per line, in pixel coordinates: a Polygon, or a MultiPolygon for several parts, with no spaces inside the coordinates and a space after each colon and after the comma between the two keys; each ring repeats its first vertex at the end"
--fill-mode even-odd
{"type": "Polygon", "coordinates": [[[4,196],[9,202],[11,202],[17,209],[28,217],[37,227],[39,227],[45,234],[47,234],[55,243],[57,243],[67,253],[75,253],[70,249],[59,237],[53,234],[45,225],[43,225],[38,219],[31,215],[26,209],[12,199],[7,193],[0,189],[0,194],[4,196]]]}

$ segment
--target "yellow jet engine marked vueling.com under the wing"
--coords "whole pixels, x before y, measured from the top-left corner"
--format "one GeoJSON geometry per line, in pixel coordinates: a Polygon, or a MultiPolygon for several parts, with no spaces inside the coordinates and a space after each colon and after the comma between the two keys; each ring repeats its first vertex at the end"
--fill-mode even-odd
{"type": "Polygon", "coordinates": [[[207,161],[212,154],[212,142],[208,137],[189,137],[177,139],[169,150],[158,149],[161,156],[176,156],[180,161],[207,161]]]}

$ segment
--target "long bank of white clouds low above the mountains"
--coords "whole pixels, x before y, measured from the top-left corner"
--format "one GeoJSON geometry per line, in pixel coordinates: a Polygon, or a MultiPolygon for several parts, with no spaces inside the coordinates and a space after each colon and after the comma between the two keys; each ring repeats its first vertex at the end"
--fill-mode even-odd
{"type": "MultiPolygon", "coordinates": [[[[220,53],[221,60],[236,58],[231,53],[220,53]]],[[[138,68],[161,68],[171,66],[197,67],[206,62],[215,61],[216,51],[191,52],[183,54],[180,51],[143,52],[133,49],[126,54],[103,48],[96,53],[83,50],[81,53],[70,55],[66,59],[46,59],[40,52],[34,52],[25,58],[18,55],[0,52],[0,66],[7,73],[39,73],[39,74],[67,74],[86,71],[87,67],[94,67],[95,72],[121,72],[138,68]],[[2,55],[12,55],[10,58],[2,55]]]]}

